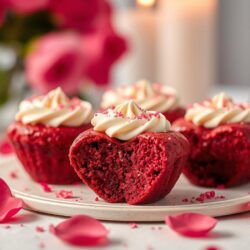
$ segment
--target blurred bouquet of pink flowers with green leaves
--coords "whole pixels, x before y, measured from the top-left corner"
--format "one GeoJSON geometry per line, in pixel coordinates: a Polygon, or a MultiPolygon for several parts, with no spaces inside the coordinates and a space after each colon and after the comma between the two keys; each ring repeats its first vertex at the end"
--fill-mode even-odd
{"type": "Polygon", "coordinates": [[[110,81],[127,51],[106,0],[1,0],[0,105],[61,86],[69,95],[110,81]]]}

